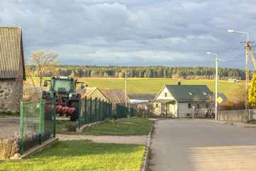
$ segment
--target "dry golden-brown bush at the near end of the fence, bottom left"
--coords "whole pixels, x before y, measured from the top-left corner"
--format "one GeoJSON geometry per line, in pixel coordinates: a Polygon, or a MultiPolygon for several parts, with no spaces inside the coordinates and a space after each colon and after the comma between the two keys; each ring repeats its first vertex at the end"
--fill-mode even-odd
{"type": "Polygon", "coordinates": [[[4,138],[0,141],[0,158],[9,159],[13,157],[20,150],[20,135],[14,133],[8,138],[4,138]]]}

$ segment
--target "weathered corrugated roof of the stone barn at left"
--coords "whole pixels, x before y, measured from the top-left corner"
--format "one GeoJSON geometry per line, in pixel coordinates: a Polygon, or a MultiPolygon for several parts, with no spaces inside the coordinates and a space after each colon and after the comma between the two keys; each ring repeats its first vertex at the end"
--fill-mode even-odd
{"type": "Polygon", "coordinates": [[[23,43],[20,27],[0,27],[0,78],[18,78],[22,61],[23,80],[26,80],[23,43]]]}

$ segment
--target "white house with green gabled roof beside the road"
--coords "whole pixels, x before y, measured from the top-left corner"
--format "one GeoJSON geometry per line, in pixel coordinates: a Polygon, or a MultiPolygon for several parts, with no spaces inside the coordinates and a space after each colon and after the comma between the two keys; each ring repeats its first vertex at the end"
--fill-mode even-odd
{"type": "Polygon", "coordinates": [[[193,112],[203,117],[206,109],[213,110],[213,92],[206,85],[165,85],[154,98],[154,114],[173,118],[191,118],[193,112]]]}

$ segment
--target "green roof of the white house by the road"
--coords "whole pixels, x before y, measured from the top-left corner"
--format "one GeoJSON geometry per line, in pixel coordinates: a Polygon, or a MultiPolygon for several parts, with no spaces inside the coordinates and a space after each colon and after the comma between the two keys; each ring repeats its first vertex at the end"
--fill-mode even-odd
{"type": "Polygon", "coordinates": [[[198,98],[198,101],[206,101],[209,95],[213,95],[206,85],[165,85],[165,87],[178,102],[193,102],[195,98],[198,98]]]}

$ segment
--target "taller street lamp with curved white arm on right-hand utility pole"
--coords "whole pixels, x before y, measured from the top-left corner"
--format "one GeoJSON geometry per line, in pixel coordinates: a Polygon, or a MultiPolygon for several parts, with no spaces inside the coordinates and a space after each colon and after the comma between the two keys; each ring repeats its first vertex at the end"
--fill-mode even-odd
{"type": "Polygon", "coordinates": [[[246,95],[245,95],[245,110],[246,113],[248,113],[249,109],[249,97],[248,97],[248,81],[249,81],[249,65],[248,65],[248,48],[249,48],[249,33],[244,32],[244,31],[234,31],[234,30],[228,30],[228,33],[246,33],[247,34],[247,41],[245,41],[245,49],[246,49],[246,78],[245,78],[245,86],[246,86],[246,95]]]}

